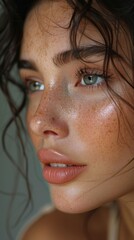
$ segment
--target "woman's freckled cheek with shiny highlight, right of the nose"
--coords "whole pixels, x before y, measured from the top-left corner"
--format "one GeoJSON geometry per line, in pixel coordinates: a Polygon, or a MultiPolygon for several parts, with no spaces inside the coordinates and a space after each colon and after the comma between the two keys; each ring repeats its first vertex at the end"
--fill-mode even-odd
{"type": "Polygon", "coordinates": [[[77,113],[74,134],[83,146],[83,157],[92,160],[94,169],[102,169],[103,163],[109,172],[117,171],[133,157],[134,142],[117,106],[102,102],[81,107],[77,113]]]}

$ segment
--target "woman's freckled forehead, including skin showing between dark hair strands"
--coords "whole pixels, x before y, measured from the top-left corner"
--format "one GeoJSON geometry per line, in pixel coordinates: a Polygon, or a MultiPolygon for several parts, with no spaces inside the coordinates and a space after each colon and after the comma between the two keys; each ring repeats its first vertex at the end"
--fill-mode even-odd
{"type": "MultiPolygon", "coordinates": [[[[73,10],[66,1],[50,0],[38,3],[30,11],[25,21],[20,58],[34,61],[38,66],[41,65],[41,62],[44,62],[44,66],[47,68],[47,64],[52,62],[53,56],[56,56],[59,52],[70,50],[72,46],[70,44],[69,24],[72,14],[73,10]]],[[[101,29],[103,29],[103,26],[101,26],[101,29]]],[[[117,32],[115,34],[114,26],[112,27],[111,46],[114,52],[118,51],[123,58],[125,56],[125,58],[130,59],[131,51],[128,47],[130,42],[128,42],[126,29],[122,29],[124,27],[120,27],[118,34],[117,32]]],[[[104,38],[108,37],[105,30],[103,31],[103,37],[100,32],[90,21],[83,20],[78,29],[77,44],[80,47],[104,47],[103,53],[105,54],[104,38]]],[[[95,56],[93,61],[96,61],[95,56]]]]}

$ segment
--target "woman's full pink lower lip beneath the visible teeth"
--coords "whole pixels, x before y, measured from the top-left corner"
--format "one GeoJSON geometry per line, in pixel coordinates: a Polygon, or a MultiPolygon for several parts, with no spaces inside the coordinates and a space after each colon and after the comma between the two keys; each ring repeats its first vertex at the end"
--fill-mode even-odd
{"type": "Polygon", "coordinates": [[[78,177],[84,169],[85,166],[71,166],[63,168],[45,166],[43,169],[43,177],[48,183],[63,184],[78,177]]]}

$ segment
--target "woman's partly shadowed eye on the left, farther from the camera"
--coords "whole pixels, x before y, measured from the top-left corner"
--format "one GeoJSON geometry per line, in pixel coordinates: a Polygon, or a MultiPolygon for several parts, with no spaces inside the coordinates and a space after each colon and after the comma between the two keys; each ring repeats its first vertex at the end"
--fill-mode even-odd
{"type": "Polygon", "coordinates": [[[33,93],[37,91],[43,91],[45,89],[44,84],[35,80],[27,80],[26,87],[28,92],[33,93]]]}

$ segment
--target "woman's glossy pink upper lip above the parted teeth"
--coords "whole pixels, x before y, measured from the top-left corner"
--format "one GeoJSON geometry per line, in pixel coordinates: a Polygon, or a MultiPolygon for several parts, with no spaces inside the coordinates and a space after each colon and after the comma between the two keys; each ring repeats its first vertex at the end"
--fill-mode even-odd
{"type": "Polygon", "coordinates": [[[52,149],[40,149],[38,151],[38,157],[40,159],[40,161],[45,164],[51,164],[51,163],[64,163],[64,164],[68,164],[68,165],[75,165],[75,166],[83,166],[85,164],[79,164],[76,163],[74,161],[72,161],[71,159],[69,159],[66,155],[61,154],[55,150],[52,149]]]}

